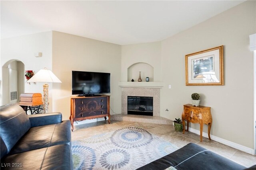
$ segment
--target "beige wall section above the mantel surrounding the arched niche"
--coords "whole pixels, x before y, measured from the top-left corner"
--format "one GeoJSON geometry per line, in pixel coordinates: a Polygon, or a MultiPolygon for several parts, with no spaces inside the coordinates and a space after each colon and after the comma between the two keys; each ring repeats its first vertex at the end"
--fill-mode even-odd
{"type": "Polygon", "coordinates": [[[122,45],[122,82],[131,81],[131,78],[134,81],[138,81],[139,71],[141,72],[142,81],[146,81],[146,77],[152,77],[151,69],[146,64],[150,64],[154,68],[154,77],[150,80],[155,82],[160,82],[161,79],[161,42],[153,43],[141,43],[141,44],[132,44],[132,45],[122,45]],[[128,76],[128,68],[133,64],[134,70],[132,76],[128,76]]]}

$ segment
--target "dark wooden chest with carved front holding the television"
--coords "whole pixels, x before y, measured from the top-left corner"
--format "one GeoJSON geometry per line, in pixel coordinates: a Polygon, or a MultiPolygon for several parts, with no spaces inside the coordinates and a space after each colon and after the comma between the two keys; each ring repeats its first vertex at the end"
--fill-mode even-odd
{"type": "Polygon", "coordinates": [[[70,121],[72,131],[74,130],[74,121],[82,121],[86,119],[95,119],[108,116],[108,123],[110,123],[110,96],[72,96],[71,97],[71,112],[70,121]]]}

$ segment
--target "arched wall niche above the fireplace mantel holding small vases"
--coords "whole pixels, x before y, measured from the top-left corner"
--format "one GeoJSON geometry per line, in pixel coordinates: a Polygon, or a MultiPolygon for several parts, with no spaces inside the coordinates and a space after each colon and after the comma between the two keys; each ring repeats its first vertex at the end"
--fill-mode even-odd
{"type": "Polygon", "coordinates": [[[132,79],[138,82],[139,72],[142,82],[146,82],[146,77],[149,77],[149,81],[154,81],[154,67],[148,63],[134,63],[127,68],[127,81],[132,79]]]}

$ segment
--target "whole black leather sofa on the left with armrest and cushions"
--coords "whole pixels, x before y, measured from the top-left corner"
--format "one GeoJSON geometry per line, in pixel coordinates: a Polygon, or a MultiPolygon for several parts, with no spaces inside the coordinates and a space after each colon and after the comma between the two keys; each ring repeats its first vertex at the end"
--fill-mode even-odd
{"type": "Polygon", "coordinates": [[[1,170],[72,170],[70,121],[61,113],[26,115],[12,104],[0,108],[1,170]]]}

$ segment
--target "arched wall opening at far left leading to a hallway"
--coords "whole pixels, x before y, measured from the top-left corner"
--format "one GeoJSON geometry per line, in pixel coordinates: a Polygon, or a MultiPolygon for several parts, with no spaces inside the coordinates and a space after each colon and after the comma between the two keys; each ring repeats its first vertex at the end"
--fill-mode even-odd
{"type": "Polygon", "coordinates": [[[25,65],[22,61],[18,59],[11,59],[3,64],[2,66],[2,75],[1,75],[1,106],[10,103],[10,96],[9,96],[9,73],[8,69],[11,68],[13,70],[17,70],[18,73],[18,80],[17,80],[17,101],[20,101],[20,94],[24,93],[25,91],[25,65]]]}

